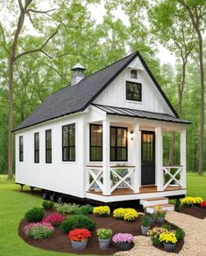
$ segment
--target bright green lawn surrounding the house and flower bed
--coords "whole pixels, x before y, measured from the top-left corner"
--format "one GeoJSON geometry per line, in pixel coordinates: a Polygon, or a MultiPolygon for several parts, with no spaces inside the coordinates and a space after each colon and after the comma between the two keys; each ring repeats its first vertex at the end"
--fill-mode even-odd
{"type": "MultiPolygon", "coordinates": [[[[188,195],[202,196],[206,200],[206,174],[199,177],[188,173],[187,181],[188,195]]],[[[29,187],[24,187],[24,193],[21,193],[18,185],[8,182],[5,175],[0,175],[0,255],[68,255],[34,248],[18,237],[18,223],[25,211],[33,206],[40,206],[41,202],[39,191],[32,194],[29,187]]]]}

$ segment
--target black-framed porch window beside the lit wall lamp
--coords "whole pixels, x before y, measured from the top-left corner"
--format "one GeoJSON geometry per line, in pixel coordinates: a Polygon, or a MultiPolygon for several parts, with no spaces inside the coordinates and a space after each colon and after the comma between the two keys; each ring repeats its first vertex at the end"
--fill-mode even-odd
{"type": "Polygon", "coordinates": [[[127,161],[127,128],[110,128],[110,161],[127,161]]]}

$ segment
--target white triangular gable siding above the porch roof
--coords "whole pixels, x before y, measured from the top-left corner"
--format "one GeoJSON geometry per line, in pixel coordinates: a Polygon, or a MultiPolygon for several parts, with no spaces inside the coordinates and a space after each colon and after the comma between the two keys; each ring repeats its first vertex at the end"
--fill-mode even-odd
{"type": "Polygon", "coordinates": [[[116,79],[94,100],[94,103],[106,106],[120,106],[156,113],[168,113],[174,116],[161,96],[160,91],[139,62],[137,57],[116,79]],[[131,68],[132,67],[132,68],[131,68]],[[131,78],[131,69],[138,69],[138,78],[131,78]],[[126,81],[142,84],[142,101],[126,99],[126,81]]]}

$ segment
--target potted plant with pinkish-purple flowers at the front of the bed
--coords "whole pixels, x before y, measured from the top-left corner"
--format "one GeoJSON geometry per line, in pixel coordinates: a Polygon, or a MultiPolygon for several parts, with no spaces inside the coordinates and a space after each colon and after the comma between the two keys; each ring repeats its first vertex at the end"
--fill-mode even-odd
{"type": "Polygon", "coordinates": [[[112,241],[121,251],[129,251],[133,242],[133,236],[129,233],[117,233],[113,236],[112,241]]]}

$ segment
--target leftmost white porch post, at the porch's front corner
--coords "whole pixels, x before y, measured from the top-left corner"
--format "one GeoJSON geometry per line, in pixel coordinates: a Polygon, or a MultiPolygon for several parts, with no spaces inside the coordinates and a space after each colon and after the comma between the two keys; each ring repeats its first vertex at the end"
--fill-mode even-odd
{"type": "Polygon", "coordinates": [[[110,194],[110,121],[103,120],[103,194],[110,194]]]}

